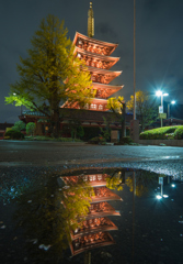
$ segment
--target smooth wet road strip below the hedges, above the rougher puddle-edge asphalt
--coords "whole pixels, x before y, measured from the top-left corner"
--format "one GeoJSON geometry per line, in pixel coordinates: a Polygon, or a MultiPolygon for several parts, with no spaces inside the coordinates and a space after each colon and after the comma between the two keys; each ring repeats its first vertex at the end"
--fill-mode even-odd
{"type": "Polygon", "coordinates": [[[56,165],[66,162],[133,162],[183,160],[183,147],[89,145],[85,143],[0,141],[0,165],[56,165]]]}

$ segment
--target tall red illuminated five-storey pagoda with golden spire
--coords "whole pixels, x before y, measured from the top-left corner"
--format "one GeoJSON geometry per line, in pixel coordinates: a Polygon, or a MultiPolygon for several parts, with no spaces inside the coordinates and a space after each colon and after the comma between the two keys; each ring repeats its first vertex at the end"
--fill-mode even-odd
{"type": "MultiPolygon", "coordinates": [[[[110,82],[122,74],[121,72],[111,70],[111,68],[119,61],[119,57],[112,57],[118,44],[103,42],[93,38],[94,35],[94,14],[92,2],[88,12],[88,36],[76,32],[73,45],[76,55],[85,61],[88,70],[91,74],[93,89],[96,90],[95,98],[90,105],[85,105],[85,109],[93,111],[106,111],[107,98],[117,92],[123,86],[110,85],[110,82]]],[[[77,102],[69,105],[66,102],[61,108],[79,109],[77,102]]]]}

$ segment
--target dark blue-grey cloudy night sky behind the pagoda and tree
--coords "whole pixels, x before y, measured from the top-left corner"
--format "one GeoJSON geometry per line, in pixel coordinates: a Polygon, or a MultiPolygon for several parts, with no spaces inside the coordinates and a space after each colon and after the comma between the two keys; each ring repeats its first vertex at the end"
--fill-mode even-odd
{"type": "MultiPolygon", "coordinates": [[[[112,56],[121,61],[112,67],[123,70],[113,82],[121,92],[134,92],[134,0],[93,0],[94,38],[118,43],[112,56]]],[[[19,75],[19,56],[26,57],[31,37],[41,20],[54,14],[65,20],[68,36],[76,31],[87,35],[89,0],[5,0],[0,8],[0,122],[15,122],[20,107],[4,105],[9,84],[19,75]]],[[[183,0],[136,0],[136,90],[152,94],[159,88],[183,103],[183,0]]],[[[160,101],[160,99],[157,99],[160,101]]]]}

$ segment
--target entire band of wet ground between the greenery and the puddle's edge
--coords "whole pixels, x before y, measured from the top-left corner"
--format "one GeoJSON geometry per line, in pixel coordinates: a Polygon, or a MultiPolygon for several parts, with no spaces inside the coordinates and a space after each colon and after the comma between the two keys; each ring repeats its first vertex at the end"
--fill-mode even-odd
{"type": "Polygon", "coordinates": [[[0,167],[131,167],[183,176],[183,148],[0,141],[0,167]]]}

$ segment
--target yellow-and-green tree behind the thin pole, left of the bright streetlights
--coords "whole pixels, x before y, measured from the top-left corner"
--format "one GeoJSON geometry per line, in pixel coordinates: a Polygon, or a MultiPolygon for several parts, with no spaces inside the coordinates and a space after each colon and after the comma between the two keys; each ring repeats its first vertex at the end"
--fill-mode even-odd
{"type": "MultiPolygon", "coordinates": [[[[134,110],[134,96],[130,96],[130,100],[126,103],[129,110],[134,110]]],[[[146,125],[153,123],[158,118],[158,106],[155,100],[150,99],[150,96],[141,90],[136,92],[136,113],[144,131],[146,125]]]]}

